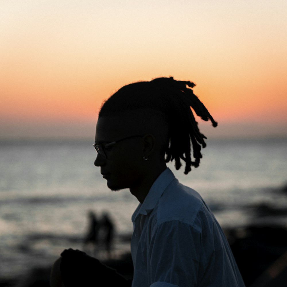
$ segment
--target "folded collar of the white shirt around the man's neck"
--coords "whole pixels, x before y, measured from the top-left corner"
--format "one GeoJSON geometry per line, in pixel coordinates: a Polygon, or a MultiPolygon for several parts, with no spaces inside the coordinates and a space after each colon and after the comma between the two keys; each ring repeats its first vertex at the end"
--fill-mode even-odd
{"type": "Polygon", "coordinates": [[[169,168],[166,168],[153,183],[143,204],[139,203],[137,209],[133,213],[132,220],[134,221],[137,214],[147,215],[150,213],[155,208],[166,187],[174,179],[175,176],[172,171],[169,168]]]}

